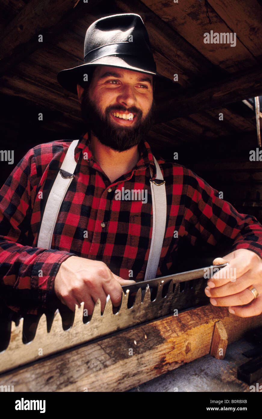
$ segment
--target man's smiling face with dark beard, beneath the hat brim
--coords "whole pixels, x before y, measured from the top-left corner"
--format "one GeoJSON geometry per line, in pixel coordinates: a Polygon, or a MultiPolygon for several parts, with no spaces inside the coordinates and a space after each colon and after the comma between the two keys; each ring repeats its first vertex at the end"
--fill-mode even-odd
{"type": "Polygon", "coordinates": [[[152,126],[153,77],[98,66],[82,94],[82,115],[99,141],[117,151],[137,145],[152,126]]]}

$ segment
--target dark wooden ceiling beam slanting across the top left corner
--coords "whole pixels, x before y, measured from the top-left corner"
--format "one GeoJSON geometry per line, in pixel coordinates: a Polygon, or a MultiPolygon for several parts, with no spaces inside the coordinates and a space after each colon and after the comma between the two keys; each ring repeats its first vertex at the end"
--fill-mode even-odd
{"type": "Polygon", "coordinates": [[[79,0],[31,0],[1,35],[0,75],[46,45],[46,41],[67,28],[70,21],[89,13],[100,1],[79,3],[79,0]],[[43,42],[38,42],[39,35],[43,35],[43,42]]]}

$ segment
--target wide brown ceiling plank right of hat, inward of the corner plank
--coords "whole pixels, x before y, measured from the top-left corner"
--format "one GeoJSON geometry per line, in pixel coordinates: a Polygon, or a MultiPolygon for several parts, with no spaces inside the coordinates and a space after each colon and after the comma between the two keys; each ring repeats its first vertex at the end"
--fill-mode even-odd
{"type": "MultiPolygon", "coordinates": [[[[237,2],[238,0],[230,2],[230,5],[227,7],[228,13],[231,13],[231,3],[237,2]]],[[[158,2],[155,0],[144,0],[144,3],[219,68],[227,72],[237,72],[257,64],[257,60],[238,38],[235,47],[230,47],[229,44],[204,44],[203,34],[206,32],[210,33],[211,29],[218,33],[236,32],[234,26],[227,26],[219,14],[209,6],[209,17],[212,23],[210,25],[206,16],[204,1],[183,0],[174,3],[171,1],[166,2],[165,0],[158,2]]],[[[248,3],[246,3],[246,8],[248,7],[248,3]]],[[[259,6],[257,8],[259,11],[259,6]]],[[[252,21],[249,21],[250,26],[252,26],[252,23],[252,21]]],[[[261,42],[261,35],[258,37],[261,42]]]]}

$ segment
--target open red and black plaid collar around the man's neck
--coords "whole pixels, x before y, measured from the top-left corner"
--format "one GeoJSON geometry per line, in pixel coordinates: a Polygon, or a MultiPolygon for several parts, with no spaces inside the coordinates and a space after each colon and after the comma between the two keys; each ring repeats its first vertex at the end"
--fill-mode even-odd
{"type": "MultiPolygon", "coordinates": [[[[156,167],[155,167],[155,162],[154,162],[154,158],[153,158],[153,154],[152,151],[150,149],[150,145],[148,144],[148,142],[146,141],[141,141],[140,144],[138,145],[138,151],[140,153],[140,160],[138,160],[137,164],[135,165],[135,167],[132,168],[132,171],[127,173],[125,177],[127,177],[128,179],[131,178],[133,176],[133,173],[135,171],[140,171],[140,170],[145,170],[147,169],[150,165],[153,169],[153,176],[152,178],[154,179],[156,176],[156,167]]],[[[86,155],[87,158],[81,160],[81,164],[87,164],[90,165],[92,167],[94,167],[95,169],[102,171],[101,167],[99,166],[99,164],[97,163],[96,160],[94,160],[92,151],[91,151],[91,147],[90,147],[90,140],[88,137],[88,132],[86,132],[85,134],[82,134],[81,137],[79,138],[79,142],[75,148],[75,160],[78,161],[80,155],[84,156],[86,155]],[[86,154],[84,154],[86,153],[86,154]]]]}

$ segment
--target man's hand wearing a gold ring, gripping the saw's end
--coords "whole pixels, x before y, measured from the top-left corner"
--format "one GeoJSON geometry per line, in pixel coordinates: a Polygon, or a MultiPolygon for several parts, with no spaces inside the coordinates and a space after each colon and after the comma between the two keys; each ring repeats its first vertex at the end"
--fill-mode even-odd
{"type": "Polygon", "coordinates": [[[239,317],[258,316],[262,313],[262,259],[247,249],[238,249],[222,258],[216,258],[214,265],[229,262],[207,283],[206,295],[210,303],[228,307],[229,313],[239,317]],[[258,296],[247,288],[253,286],[258,296]]]}

